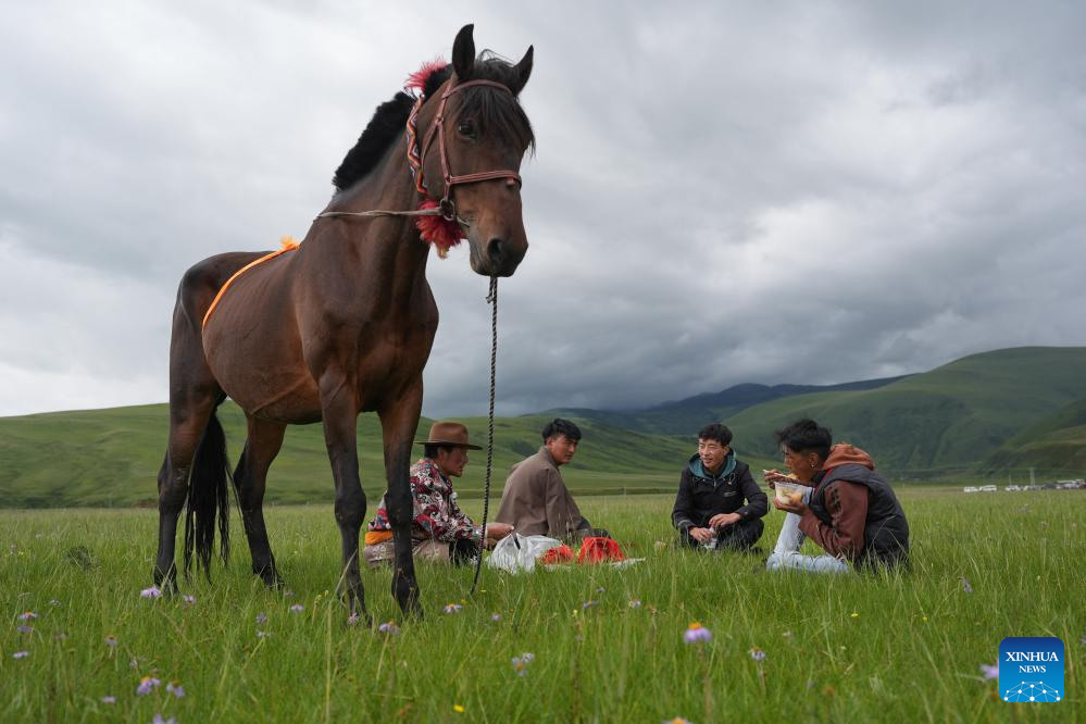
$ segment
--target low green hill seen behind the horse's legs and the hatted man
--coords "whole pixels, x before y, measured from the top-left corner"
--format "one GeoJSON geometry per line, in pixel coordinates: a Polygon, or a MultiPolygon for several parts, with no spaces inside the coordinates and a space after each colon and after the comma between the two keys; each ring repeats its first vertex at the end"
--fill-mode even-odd
{"type": "MultiPolygon", "coordinates": [[[[220,409],[232,464],[245,441],[245,419],[232,402],[220,409]]],[[[461,419],[485,446],[486,419],[461,419]]],[[[167,409],[151,404],[112,410],[0,417],[0,507],[153,505],[166,444],[167,409]]],[[[501,490],[510,465],[534,453],[546,417],[499,419],[495,424],[491,487],[501,490]]],[[[420,423],[420,439],[430,425],[420,423]]],[[[585,439],[563,467],[575,491],[671,490],[696,447],[691,439],[634,433],[582,421],[585,439]]],[[[419,454],[422,448],[419,448],[419,454]]],[[[376,503],[384,491],[380,428],[359,419],[362,485],[376,503]]],[[[486,451],[474,452],[458,489],[483,489],[486,451]]],[[[292,426],[269,475],[269,502],[329,502],[335,486],[320,425],[292,426]]]]}

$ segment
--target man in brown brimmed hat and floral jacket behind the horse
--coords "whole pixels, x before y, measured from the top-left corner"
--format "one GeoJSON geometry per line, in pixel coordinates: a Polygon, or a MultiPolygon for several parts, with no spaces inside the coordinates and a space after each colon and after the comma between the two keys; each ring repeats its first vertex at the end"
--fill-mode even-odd
{"type": "MultiPolygon", "coordinates": [[[[425,446],[423,458],[411,466],[411,498],[414,502],[411,521],[412,550],[415,559],[427,559],[462,565],[479,554],[484,540],[482,526],[460,510],[452,491],[453,477],[464,474],[469,450],[482,450],[467,438],[467,428],[455,422],[436,422],[425,446]]],[[[513,532],[513,526],[490,523],[486,538],[500,540],[513,532]]],[[[365,534],[362,557],[373,567],[391,562],[396,557],[392,525],[382,496],[377,513],[365,534]]]]}

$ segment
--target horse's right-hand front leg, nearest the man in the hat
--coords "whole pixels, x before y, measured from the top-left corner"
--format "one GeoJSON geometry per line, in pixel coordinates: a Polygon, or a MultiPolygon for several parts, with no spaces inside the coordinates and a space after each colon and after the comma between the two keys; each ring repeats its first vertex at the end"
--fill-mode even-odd
{"type": "Polygon", "coordinates": [[[419,379],[398,400],[386,404],[378,413],[385,442],[385,473],[388,492],[385,504],[388,521],[392,524],[396,544],[396,571],[392,573],[392,596],[400,610],[408,615],[422,616],[419,606],[419,582],[411,552],[411,521],[414,519],[414,499],[409,479],[411,444],[419,429],[422,411],[422,379],[419,379]]]}

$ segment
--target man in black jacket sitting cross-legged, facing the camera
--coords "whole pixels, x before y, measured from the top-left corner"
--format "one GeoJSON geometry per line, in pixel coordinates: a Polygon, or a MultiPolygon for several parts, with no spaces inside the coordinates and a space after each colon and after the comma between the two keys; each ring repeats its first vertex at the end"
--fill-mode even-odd
{"type": "MultiPolygon", "coordinates": [[[[698,432],[698,451],[683,469],[672,524],[684,546],[751,550],[762,537],[765,494],[735,458],[732,430],[713,423],[698,432]]],[[[757,549],[753,549],[757,550],[757,549]]]]}

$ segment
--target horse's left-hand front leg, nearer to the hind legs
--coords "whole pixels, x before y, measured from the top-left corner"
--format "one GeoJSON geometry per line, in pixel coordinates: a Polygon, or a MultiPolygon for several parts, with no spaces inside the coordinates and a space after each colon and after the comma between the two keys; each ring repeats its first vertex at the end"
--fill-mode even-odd
{"type": "Polygon", "coordinates": [[[336,480],[336,523],[344,552],[341,581],[351,615],[370,624],[359,575],[359,529],[365,517],[365,492],[359,480],[358,396],[346,375],[334,372],[321,377],[320,389],[324,442],[336,480]]]}

